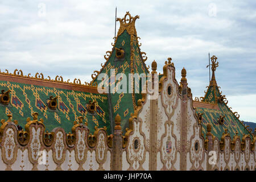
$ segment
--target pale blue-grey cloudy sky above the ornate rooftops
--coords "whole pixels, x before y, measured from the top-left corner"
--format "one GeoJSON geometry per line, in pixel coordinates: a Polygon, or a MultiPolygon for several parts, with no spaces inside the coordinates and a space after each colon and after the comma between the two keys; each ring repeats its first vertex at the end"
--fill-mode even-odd
{"type": "MultiPolygon", "coordinates": [[[[158,72],[172,57],[176,79],[187,69],[193,98],[209,85],[208,52],[218,57],[218,86],[228,106],[256,122],[256,1],[12,1],[0,0],[1,71],[90,82],[112,49],[115,6],[139,15],[136,28],[147,65],[158,72]]],[[[119,23],[117,23],[117,30],[119,23]]]]}

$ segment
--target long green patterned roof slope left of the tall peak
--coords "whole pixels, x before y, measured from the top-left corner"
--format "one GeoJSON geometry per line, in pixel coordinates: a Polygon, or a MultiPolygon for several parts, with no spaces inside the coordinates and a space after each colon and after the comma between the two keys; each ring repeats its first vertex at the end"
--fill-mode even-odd
{"type": "Polygon", "coordinates": [[[26,119],[37,112],[39,117],[43,118],[48,131],[61,127],[69,133],[74,121],[83,117],[83,122],[87,123],[90,133],[94,132],[95,126],[106,126],[108,133],[111,132],[108,97],[106,94],[99,94],[97,88],[0,73],[0,89],[4,90],[3,93],[10,90],[10,102],[7,105],[0,104],[1,119],[6,119],[7,114],[12,114],[13,119],[17,120],[23,129],[27,123],[26,119]],[[49,107],[51,98],[56,98],[56,109],[54,106],[49,107]],[[90,113],[86,106],[93,101],[96,109],[90,113]]]}

